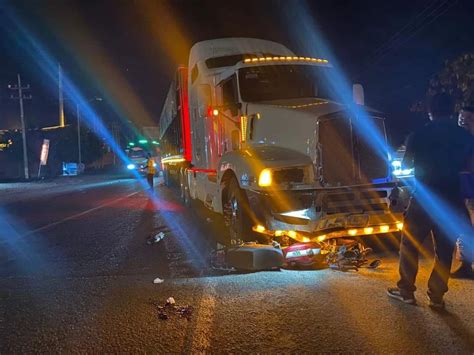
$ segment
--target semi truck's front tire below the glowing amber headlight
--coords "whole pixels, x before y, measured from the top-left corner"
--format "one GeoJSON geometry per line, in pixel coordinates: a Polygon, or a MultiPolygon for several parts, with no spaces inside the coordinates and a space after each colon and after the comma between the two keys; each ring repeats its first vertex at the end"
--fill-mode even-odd
{"type": "Polygon", "coordinates": [[[247,196],[235,177],[230,179],[226,191],[224,219],[229,229],[230,243],[257,240],[256,233],[252,230],[253,224],[247,196]]]}

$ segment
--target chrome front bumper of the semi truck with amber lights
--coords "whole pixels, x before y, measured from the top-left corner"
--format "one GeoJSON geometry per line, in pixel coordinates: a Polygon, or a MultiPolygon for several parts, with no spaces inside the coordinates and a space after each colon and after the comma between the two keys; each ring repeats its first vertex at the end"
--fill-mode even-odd
{"type": "Polygon", "coordinates": [[[254,231],[301,242],[393,233],[410,192],[395,183],[338,188],[247,190],[254,231]]]}

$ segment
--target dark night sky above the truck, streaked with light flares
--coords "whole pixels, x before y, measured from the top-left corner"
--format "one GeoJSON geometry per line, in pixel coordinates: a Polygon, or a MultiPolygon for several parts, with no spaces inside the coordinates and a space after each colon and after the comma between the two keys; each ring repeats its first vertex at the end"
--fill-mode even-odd
{"type": "MultiPolygon", "coordinates": [[[[18,103],[8,83],[19,72],[31,85],[30,126],[57,124],[56,83],[38,70],[21,40],[8,33],[14,14],[107,119],[138,125],[157,121],[177,64],[190,46],[219,37],[281,42],[308,52],[301,13],[314,21],[349,81],[360,82],[366,101],[387,113],[395,142],[419,122],[412,102],[423,99],[429,79],[447,59],[474,51],[474,1],[14,1],[0,22],[0,129],[18,127],[18,103]]],[[[332,59],[332,58],[330,58],[332,59]]],[[[73,120],[68,110],[66,119],[73,120]]],[[[419,120],[419,118],[418,118],[419,120]]]]}

